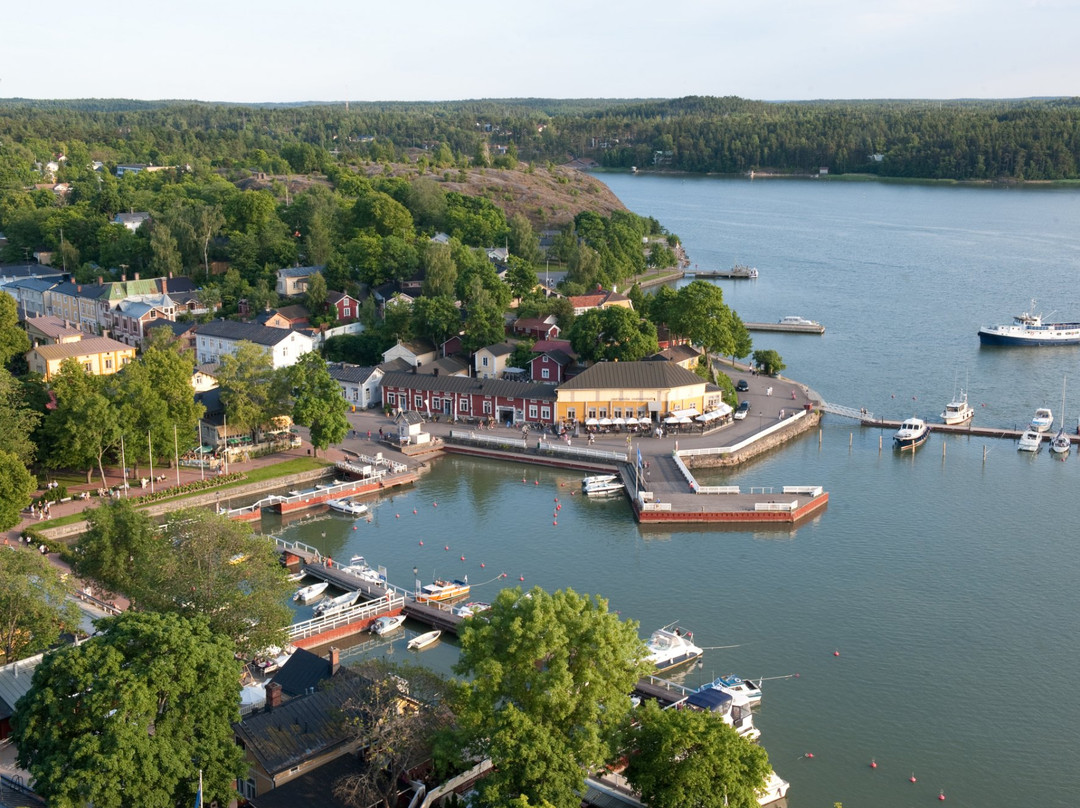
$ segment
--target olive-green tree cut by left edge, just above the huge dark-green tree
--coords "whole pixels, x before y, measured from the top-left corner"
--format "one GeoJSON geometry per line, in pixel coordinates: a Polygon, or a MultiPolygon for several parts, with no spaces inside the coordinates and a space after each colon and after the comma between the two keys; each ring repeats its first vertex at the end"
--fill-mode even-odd
{"type": "Polygon", "coordinates": [[[79,609],[68,600],[56,567],[33,551],[0,551],[0,655],[5,663],[51,648],[62,631],[73,632],[78,625],[79,609]]]}

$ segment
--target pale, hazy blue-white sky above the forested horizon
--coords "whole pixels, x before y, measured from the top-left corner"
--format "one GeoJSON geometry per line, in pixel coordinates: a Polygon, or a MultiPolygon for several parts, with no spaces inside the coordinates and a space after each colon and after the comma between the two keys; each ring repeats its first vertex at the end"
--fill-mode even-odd
{"type": "Polygon", "coordinates": [[[14,2],[0,98],[1080,95],[1078,0],[14,2]]]}

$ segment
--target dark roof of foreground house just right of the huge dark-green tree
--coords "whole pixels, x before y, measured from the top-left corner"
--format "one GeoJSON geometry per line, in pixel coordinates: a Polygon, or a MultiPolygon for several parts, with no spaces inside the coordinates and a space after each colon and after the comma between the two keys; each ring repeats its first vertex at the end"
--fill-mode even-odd
{"type": "Polygon", "coordinates": [[[363,699],[369,688],[367,678],[342,668],[323,689],[248,715],[232,728],[262,768],[276,775],[334,750],[348,751],[356,738],[341,706],[363,699]]]}

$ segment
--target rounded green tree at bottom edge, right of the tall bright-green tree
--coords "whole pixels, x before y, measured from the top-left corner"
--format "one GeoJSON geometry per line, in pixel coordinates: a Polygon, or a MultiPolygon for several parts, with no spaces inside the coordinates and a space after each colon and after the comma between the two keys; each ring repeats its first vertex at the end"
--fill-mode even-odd
{"type": "Polygon", "coordinates": [[[718,716],[642,705],[627,732],[626,779],[652,808],[757,808],[769,776],[765,750],[718,716]]]}

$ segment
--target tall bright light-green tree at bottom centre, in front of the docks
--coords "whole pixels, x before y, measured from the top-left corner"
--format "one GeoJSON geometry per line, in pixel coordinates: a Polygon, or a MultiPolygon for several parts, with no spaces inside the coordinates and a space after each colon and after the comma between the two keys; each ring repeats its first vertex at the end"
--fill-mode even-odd
{"type": "Polygon", "coordinates": [[[636,624],[600,597],[514,588],[462,625],[461,750],[494,764],[480,804],[524,794],[577,808],[588,772],[615,755],[629,693],[648,668],[636,624]]]}

